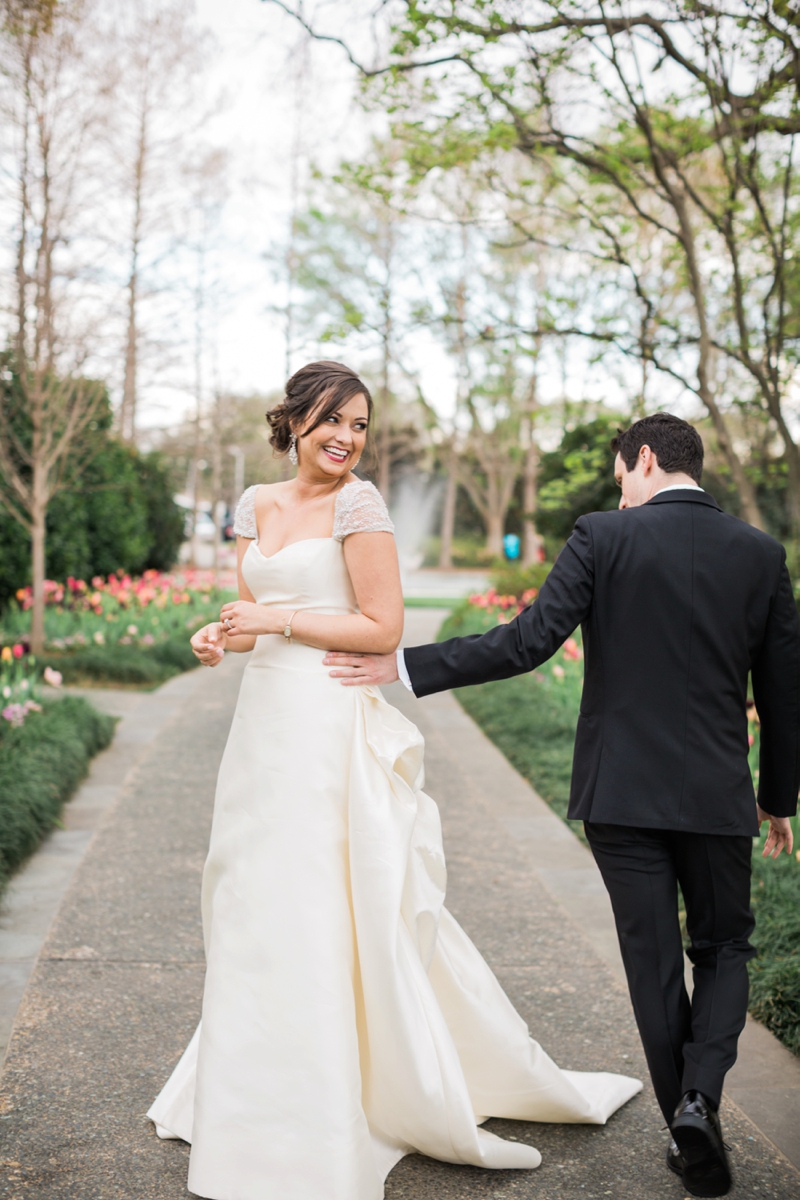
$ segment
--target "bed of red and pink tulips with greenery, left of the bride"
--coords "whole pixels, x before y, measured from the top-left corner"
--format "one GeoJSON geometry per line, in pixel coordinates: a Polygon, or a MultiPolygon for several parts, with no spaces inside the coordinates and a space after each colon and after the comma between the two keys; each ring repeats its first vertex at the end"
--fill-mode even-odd
{"type": "MultiPolygon", "coordinates": [[[[224,572],[221,584],[215,586],[212,571],[191,570],[48,580],[41,666],[60,671],[65,683],[145,686],[188,671],[197,666],[188,640],[218,616],[223,589],[235,586],[233,572],[224,572]]],[[[1,653],[26,652],[31,606],[30,588],[20,589],[0,622],[1,653]]]]}

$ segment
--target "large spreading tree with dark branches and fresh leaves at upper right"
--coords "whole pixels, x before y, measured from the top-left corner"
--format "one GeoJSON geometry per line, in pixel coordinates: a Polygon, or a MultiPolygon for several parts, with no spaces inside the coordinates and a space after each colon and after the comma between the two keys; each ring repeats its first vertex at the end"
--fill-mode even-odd
{"type": "Polygon", "coordinates": [[[572,168],[573,212],[642,304],[631,352],[697,396],[742,515],[762,526],[720,389],[721,358],[735,364],[739,388],[783,439],[798,528],[800,452],[786,408],[798,340],[793,6],[417,0],[393,14],[390,38],[386,60],[362,73],[387,80],[393,112],[413,107],[432,160],[511,150],[572,168]],[[670,312],[639,270],[637,227],[679,284],[684,302],[670,312]]]}

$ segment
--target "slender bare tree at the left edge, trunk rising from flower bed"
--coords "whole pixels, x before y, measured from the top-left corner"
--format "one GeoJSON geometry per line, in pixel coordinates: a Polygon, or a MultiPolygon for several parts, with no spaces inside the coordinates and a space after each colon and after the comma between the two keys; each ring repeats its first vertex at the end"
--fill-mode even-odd
{"type": "MultiPolygon", "coordinates": [[[[53,496],[96,451],[88,434],[106,391],[86,379],[98,340],[82,288],[97,253],[96,146],[108,77],[92,59],[88,5],[7,0],[0,30],[2,108],[16,245],[14,313],[0,398],[0,503],[30,534],[31,646],[44,642],[44,536],[53,496]]],[[[8,178],[8,176],[7,176],[8,178]]]]}

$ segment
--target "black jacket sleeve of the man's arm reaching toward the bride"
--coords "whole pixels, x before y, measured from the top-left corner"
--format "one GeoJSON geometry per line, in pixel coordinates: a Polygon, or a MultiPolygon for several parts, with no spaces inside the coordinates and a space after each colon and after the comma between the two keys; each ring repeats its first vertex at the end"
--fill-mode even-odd
{"type": "Polygon", "coordinates": [[[524,674],[546,662],[589,612],[594,592],[590,522],[581,517],[536,601],[488,634],[403,652],[416,696],[524,674]]]}

